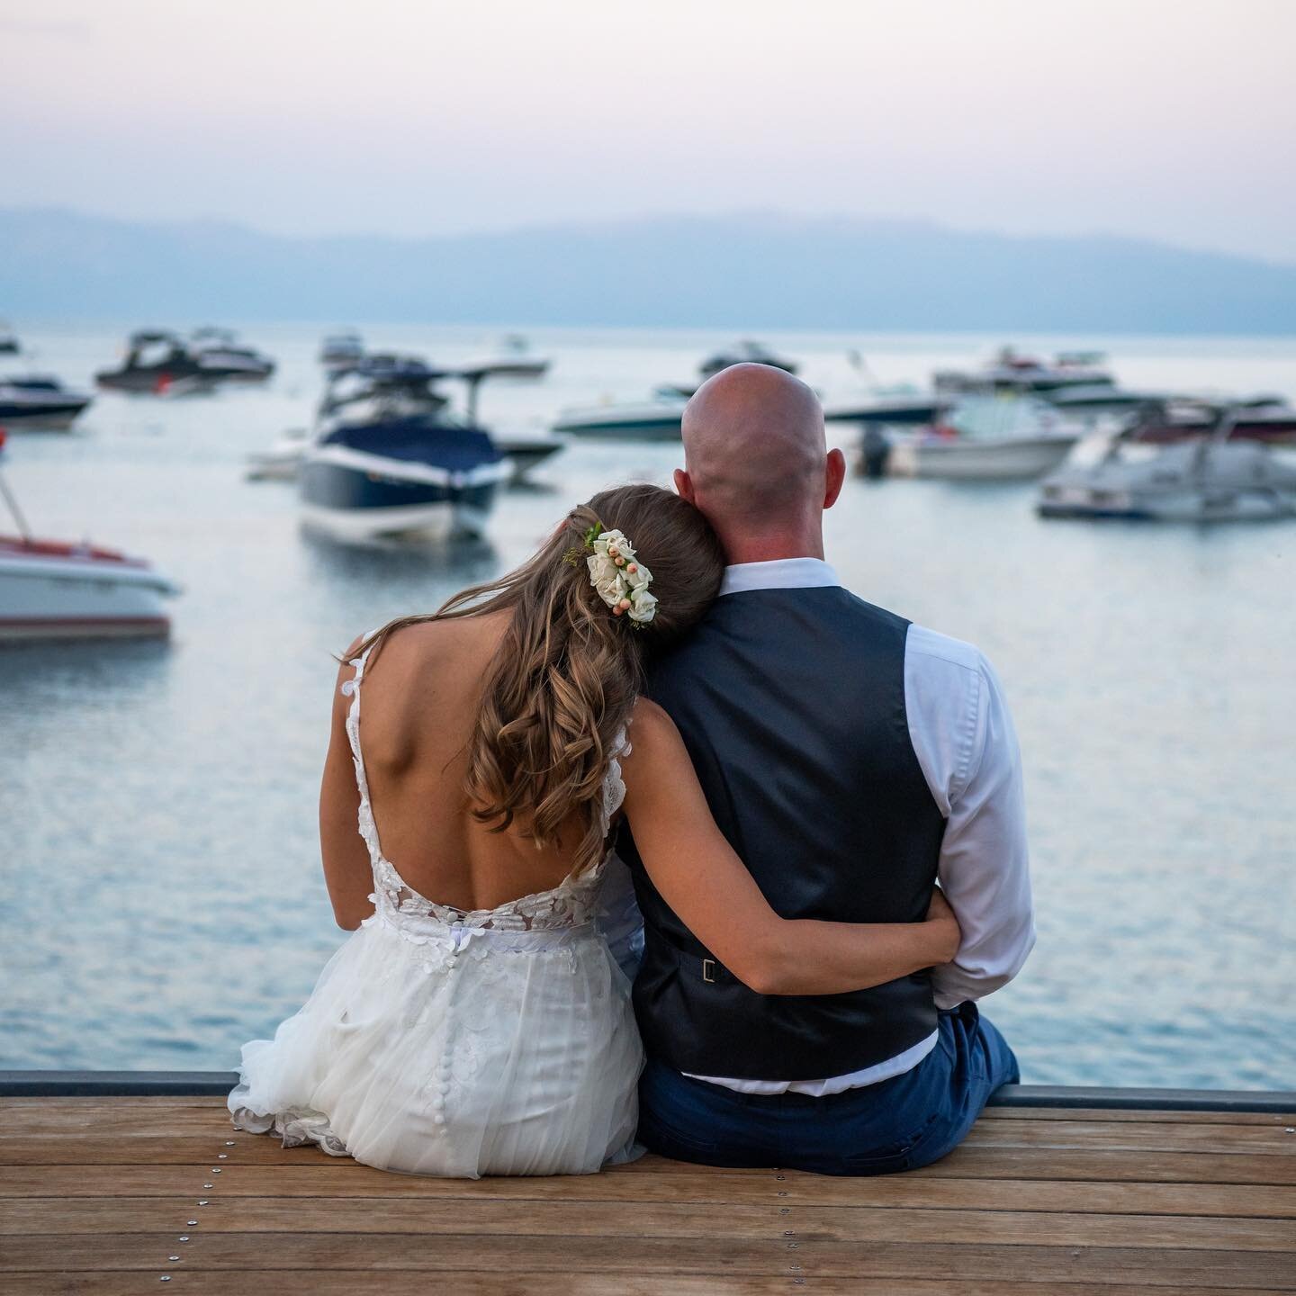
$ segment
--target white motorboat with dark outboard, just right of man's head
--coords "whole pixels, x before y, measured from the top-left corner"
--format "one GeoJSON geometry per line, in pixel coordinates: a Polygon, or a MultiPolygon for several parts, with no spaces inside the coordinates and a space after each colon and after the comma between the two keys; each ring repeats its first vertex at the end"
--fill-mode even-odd
{"type": "Polygon", "coordinates": [[[1028,481],[1056,468],[1083,433],[1034,397],[969,398],[950,421],[889,438],[885,468],[897,477],[1028,481]]]}

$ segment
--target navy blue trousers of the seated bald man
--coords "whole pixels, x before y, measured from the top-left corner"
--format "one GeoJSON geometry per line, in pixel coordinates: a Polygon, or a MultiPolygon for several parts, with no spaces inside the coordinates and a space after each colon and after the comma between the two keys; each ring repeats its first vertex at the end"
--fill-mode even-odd
{"type": "Polygon", "coordinates": [[[639,1140],[701,1165],[819,1174],[929,1165],[958,1147],[1001,1085],[1020,1078],[1012,1050],[975,1003],[942,1012],[938,1032],[912,1070],[827,1098],[737,1094],[649,1059],[639,1082],[639,1140]]]}

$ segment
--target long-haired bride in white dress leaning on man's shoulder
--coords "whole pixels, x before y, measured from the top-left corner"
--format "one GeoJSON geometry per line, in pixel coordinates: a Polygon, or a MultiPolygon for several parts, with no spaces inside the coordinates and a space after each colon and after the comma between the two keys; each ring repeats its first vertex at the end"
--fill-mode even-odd
{"type": "Polygon", "coordinates": [[[938,893],[925,923],[780,919],[715,827],[640,683],[723,566],[692,504],[623,486],[516,572],[353,645],[320,839],[354,934],[275,1038],[244,1047],[235,1125],[415,1174],[632,1159],[643,1050],[605,932],[619,815],[670,906],[757,993],[858,990],[954,956],[938,893]]]}

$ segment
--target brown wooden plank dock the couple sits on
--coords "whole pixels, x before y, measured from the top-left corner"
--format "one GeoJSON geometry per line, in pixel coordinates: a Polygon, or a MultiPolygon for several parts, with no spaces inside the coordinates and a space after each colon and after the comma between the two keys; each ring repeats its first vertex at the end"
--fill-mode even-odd
{"type": "Polygon", "coordinates": [[[953,1156],[886,1178],[649,1157],[465,1182],[284,1150],[218,1096],[3,1096],[0,1291],[1291,1292],[1296,1104],[991,1107],[953,1156]]]}

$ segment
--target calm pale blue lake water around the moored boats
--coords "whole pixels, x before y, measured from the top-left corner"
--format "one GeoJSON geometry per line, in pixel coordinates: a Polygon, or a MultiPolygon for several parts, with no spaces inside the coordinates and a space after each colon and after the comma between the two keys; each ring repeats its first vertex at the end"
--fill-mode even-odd
{"type": "MultiPolygon", "coordinates": [[[[669,480],[673,445],[573,445],[473,546],[303,537],[292,487],[242,460],[310,419],[320,329],[248,329],[264,390],[101,395],[71,437],[10,441],[40,534],[89,535],[184,586],[170,643],[0,653],[0,1067],[229,1068],[342,940],[315,841],[330,653],[524,559],[565,508],[669,480]]],[[[88,381],[122,329],[26,329],[88,381]]],[[[365,329],[451,363],[472,330],[365,329]]],[[[502,430],[635,398],[732,338],[531,332],[557,363],[489,386],[502,430]]],[[[826,395],[969,365],[995,337],[770,334],[826,395]]],[[[1130,386],[1296,397],[1296,340],[1019,338],[1100,346],[1130,386]]],[[[844,434],[848,442],[853,434],[844,434]]],[[[853,478],[829,559],[863,597],[980,644],[1025,754],[1039,943],[986,1011],[1039,1083],[1296,1087],[1296,524],[1036,518],[1032,486],[853,478]]]]}

